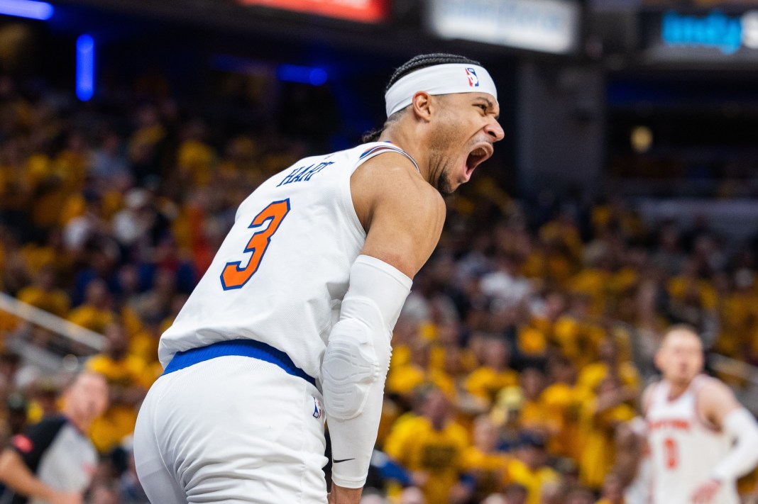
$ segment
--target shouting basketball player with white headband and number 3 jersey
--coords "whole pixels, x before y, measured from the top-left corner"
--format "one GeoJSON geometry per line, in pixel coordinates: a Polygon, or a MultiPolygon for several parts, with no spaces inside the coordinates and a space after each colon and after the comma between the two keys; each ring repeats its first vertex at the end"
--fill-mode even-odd
{"type": "Polygon", "coordinates": [[[306,157],[240,205],[162,335],[134,434],[153,504],[359,502],[393,326],[440,237],[442,194],[503,138],[493,80],[460,56],[413,58],[385,103],[379,142],[306,157]]]}

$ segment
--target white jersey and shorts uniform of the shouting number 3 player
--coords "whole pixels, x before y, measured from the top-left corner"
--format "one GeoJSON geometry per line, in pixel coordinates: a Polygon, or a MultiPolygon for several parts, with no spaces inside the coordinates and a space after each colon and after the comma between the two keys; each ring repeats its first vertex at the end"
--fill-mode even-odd
{"type": "Polygon", "coordinates": [[[166,373],[139,412],[137,473],[153,504],[326,502],[315,384],[365,242],[350,176],[385,152],[408,156],[376,142],[307,157],[240,205],[161,337],[166,373]]]}

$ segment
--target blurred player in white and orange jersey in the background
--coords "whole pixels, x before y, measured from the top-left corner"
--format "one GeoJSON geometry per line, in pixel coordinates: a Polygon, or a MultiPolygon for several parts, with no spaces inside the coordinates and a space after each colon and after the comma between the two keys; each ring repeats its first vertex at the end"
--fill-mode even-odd
{"type": "Polygon", "coordinates": [[[758,462],[755,418],[725,384],[701,374],[693,329],[670,328],[655,360],[663,379],[643,396],[653,502],[738,504],[735,481],[758,462]]]}

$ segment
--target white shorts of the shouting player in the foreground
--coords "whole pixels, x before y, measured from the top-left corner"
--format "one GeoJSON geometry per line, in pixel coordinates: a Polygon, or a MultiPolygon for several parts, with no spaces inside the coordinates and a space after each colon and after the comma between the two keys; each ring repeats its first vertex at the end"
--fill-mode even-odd
{"type": "Polygon", "coordinates": [[[308,381],[247,356],[163,375],[136,422],[139,481],[152,504],[326,504],[321,403],[308,381]]]}

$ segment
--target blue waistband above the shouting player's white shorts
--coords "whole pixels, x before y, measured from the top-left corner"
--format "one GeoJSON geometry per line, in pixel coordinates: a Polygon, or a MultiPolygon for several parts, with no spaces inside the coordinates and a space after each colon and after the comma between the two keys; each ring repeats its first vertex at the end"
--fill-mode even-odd
{"type": "Polygon", "coordinates": [[[198,362],[225,355],[252,357],[253,359],[271,362],[271,364],[279,366],[288,374],[302,378],[315,387],[315,379],[299,367],[295,366],[295,363],[292,362],[292,359],[290,359],[290,356],[288,356],[287,353],[277,350],[276,348],[271,347],[271,345],[255,340],[218,341],[218,343],[210,344],[207,347],[192,348],[183,352],[177,352],[176,355],[174,355],[174,358],[171,359],[171,362],[168,362],[168,366],[166,366],[163,374],[168,375],[168,373],[187,368],[198,362]]]}

